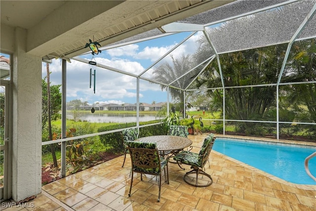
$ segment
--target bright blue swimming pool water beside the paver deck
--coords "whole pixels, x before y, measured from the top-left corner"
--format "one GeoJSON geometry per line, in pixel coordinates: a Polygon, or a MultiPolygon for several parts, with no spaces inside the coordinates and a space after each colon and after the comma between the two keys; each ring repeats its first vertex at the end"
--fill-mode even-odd
{"type": "MultiPolygon", "coordinates": [[[[316,185],[304,168],[305,158],[314,153],[316,148],[218,137],[213,150],[285,181],[316,185]]],[[[309,169],[315,176],[316,158],[310,160],[309,169]]]]}

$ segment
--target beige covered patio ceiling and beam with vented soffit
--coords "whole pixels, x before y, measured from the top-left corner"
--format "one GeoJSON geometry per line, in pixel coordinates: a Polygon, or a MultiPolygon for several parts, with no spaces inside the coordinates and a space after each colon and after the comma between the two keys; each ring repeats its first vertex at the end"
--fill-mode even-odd
{"type": "Polygon", "coordinates": [[[233,1],[1,0],[0,18],[1,28],[27,29],[28,53],[71,58],[87,51],[89,39],[105,46],[233,1]]]}

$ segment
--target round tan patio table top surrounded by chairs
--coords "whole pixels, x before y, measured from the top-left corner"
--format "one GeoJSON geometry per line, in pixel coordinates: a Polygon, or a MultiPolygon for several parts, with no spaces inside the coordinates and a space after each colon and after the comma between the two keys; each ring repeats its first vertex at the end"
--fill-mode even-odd
{"type": "MultiPolygon", "coordinates": [[[[165,154],[177,155],[179,151],[192,145],[192,140],[186,137],[175,136],[175,135],[153,135],[138,138],[135,141],[156,143],[158,151],[162,152],[162,156],[165,154]]],[[[184,169],[180,166],[181,169],[184,169]]]]}

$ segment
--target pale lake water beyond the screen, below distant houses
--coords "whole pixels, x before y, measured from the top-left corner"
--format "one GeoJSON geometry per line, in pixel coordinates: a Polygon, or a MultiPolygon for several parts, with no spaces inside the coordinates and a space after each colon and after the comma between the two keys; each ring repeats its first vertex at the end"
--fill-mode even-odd
{"type": "MultiPolygon", "coordinates": [[[[71,113],[67,113],[68,119],[74,119],[71,113]]],[[[136,114],[87,114],[81,113],[78,117],[81,121],[87,121],[90,123],[133,123],[136,122],[136,114]]],[[[139,116],[139,122],[147,122],[152,120],[158,120],[155,114],[141,114],[139,116]]],[[[162,117],[161,117],[162,119],[162,117]]]]}

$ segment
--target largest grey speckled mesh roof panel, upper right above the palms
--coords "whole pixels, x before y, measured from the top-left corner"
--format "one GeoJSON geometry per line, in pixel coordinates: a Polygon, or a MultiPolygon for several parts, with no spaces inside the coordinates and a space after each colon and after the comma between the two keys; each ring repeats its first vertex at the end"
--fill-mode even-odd
{"type": "Polygon", "coordinates": [[[267,11],[208,26],[217,52],[289,42],[314,1],[297,1],[267,11]]]}

